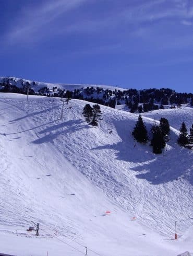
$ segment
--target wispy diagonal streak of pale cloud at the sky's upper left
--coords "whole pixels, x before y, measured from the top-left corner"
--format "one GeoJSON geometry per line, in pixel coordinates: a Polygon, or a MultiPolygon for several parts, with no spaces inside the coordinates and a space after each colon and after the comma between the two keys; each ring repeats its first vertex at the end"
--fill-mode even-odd
{"type": "Polygon", "coordinates": [[[33,8],[25,7],[5,35],[6,41],[16,43],[39,40],[49,33],[49,25],[54,20],[86,1],[88,0],[55,0],[46,1],[33,8]]]}

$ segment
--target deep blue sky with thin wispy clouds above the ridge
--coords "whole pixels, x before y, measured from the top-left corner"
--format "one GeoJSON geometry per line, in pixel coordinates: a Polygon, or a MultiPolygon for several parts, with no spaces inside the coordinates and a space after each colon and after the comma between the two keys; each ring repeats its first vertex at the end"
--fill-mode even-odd
{"type": "Polygon", "coordinates": [[[192,0],[0,4],[0,76],[193,92],[192,0]]]}

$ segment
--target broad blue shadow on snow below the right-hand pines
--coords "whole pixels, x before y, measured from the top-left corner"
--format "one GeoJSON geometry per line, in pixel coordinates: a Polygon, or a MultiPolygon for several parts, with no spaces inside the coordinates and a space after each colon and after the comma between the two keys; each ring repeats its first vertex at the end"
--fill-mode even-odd
{"type": "MultiPolygon", "coordinates": [[[[134,129],[125,121],[114,121],[116,131],[122,142],[113,145],[104,145],[94,149],[116,150],[116,158],[128,162],[139,163],[137,167],[130,168],[138,172],[136,177],[146,179],[152,184],[162,184],[170,181],[187,180],[193,185],[193,152],[186,148],[171,147],[162,154],[152,153],[152,147],[134,142],[131,132],[134,129]]],[[[170,144],[170,142],[169,142],[170,144]]]]}

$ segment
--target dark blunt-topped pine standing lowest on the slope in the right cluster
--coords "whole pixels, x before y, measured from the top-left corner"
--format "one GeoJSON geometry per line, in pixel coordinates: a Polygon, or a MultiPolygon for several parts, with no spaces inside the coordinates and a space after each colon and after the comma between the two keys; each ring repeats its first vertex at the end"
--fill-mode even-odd
{"type": "Polygon", "coordinates": [[[151,129],[153,137],[151,139],[151,146],[153,146],[154,154],[161,154],[165,147],[165,137],[159,125],[154,125],[151,129]]]}

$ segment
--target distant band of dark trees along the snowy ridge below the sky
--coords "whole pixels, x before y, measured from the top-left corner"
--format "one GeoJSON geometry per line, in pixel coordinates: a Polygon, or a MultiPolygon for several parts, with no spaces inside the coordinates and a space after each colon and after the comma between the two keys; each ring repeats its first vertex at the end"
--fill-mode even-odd
{"type": "Polygon", "coordinates": [[[130,112],[147,112],[156,109],[164,109],[164,105],[171,105],[171,108],[180,106],[180,104],[190,103],[193,106],[193,94],[186,92],[178,93],[169,88],[161,89],[104,89],[102,87],[82,87],[73,91],[66,91],[62,88],[54,86],[52,89],[42,87],[38,92],[32,89],[39,84],[37,82],[28,82],[24,79],[16,80],[16,78],[5,77],[1,80],[0,91],[2,92],[17,92],[25,94],[30,88],[30,94],[39,94],[49,97],[66,97],[70,94],[70,98],[81,99],[102,104],[104,106],[115,108],[116,104],[125,104],[130,112]],[[19,86],[19,87],[18,87],[19,86]]]}

